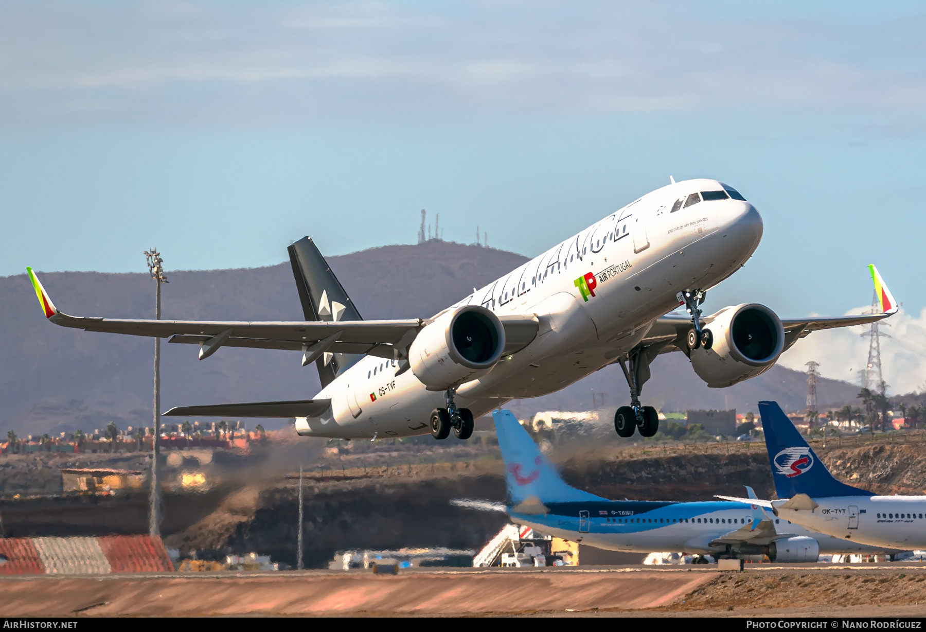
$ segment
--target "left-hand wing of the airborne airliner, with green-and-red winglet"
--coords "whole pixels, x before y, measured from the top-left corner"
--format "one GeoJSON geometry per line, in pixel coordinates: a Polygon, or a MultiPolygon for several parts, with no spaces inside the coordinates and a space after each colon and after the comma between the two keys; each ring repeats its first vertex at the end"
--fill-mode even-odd
{"type": "MultiPolygon", "coordinates": [[[[325,352],[367,353],[396,360],[396,351],[407,348],[421,328],[430,322],[427,319],[340,322],[156,321],[70,316],[57,310],[32,269],[27,268],[27,272],[45,317],[56,325],[88,332],[169,337],[171,343],[200,345],[200,360],[205,360],[219,347],[306,351],[304,366],[325,352]]],[[[506,353],[514,353],[525,347],[536,335],[538,320],[533,314],[506,316],[500,320],[507,338],[506,353]]]]}

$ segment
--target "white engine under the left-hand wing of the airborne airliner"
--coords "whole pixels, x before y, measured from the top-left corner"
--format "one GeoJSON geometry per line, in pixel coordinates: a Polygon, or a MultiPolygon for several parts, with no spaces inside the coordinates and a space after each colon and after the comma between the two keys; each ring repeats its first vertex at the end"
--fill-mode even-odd
{"type": "Polygon", "coordinates": [[[493,312],[466,305],[441,314],[408,348],[408,363],[428,390],[443,391],[489,373],[505,348],[493,312]]]}

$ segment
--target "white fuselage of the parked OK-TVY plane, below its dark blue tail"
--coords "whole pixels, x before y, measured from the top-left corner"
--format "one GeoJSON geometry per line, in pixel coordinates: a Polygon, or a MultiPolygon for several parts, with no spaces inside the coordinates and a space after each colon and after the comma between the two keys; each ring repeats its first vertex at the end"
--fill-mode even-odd
{"type": "Polygon", "coordinates": [[[894,549],[926,549],[926,499],[921,496],[840,496],[814,501],[819,507],[812,512],[780,509],[779,515],[833,537],[894,549]]]}

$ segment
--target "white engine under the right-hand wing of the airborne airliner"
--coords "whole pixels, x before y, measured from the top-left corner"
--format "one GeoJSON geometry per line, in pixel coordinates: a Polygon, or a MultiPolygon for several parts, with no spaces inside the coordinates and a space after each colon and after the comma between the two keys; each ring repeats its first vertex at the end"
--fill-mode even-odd
{"type": "Polygon", "coordinates": [[[768,371],[782,355],[784,328],[774,311],[758,303],[724,308],[704,329],[710,349],[691,351],[692,368],[711,388],[732,386],[768,371]]]}

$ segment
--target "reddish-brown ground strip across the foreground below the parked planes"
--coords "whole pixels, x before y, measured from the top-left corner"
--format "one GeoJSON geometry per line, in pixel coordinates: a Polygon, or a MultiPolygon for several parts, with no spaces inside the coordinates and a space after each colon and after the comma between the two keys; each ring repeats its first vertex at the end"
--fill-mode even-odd
{"type": "Polygon", "coordinates": [[[4,577],[5,616],[897,616],[926,613],[917,564],[4,577]],[[882,606],[890,609],[882,613],[882,606]]]}

